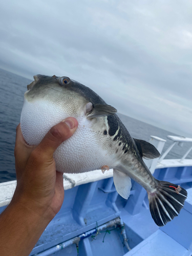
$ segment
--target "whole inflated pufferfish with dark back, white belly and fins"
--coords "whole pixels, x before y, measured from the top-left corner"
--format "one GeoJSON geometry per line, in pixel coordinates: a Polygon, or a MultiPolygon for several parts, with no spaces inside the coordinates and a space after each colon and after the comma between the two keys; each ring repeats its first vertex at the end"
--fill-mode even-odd
{"type": "Polygon", "coordinates": [[[67,117],[78,121],[74,135],[54,153],[59,172],[77,174],[113,168],[114,184],[123,198],[130,195],[131,179],[146,189],[158,226],[178,216],[187,191],[153,177],[143,158],[157,158],[159,152],[152,144],[132,138],[113,106],[65,76],[36,75],[27,89],[20,125],[29,145],[39,144],[52,126],[67,117]]]}

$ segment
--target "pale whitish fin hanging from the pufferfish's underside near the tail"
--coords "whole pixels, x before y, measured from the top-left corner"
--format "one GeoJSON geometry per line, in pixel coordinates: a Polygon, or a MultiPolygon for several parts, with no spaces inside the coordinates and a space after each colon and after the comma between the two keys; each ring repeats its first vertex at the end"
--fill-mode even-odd
{"type": "Polygon", "coordinates": [[[113,169],[113,181],[118,194],[128,199],[132,187],[131,178],[117,169],[113,169]]]}

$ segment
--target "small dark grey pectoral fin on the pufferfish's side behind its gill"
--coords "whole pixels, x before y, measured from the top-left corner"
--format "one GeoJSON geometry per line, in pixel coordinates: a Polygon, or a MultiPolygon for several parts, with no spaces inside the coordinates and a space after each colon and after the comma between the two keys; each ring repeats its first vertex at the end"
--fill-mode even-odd
{"type": "Polygon", "coordinates": [[[116,113],[117,113],[117,110],[113,106],[104,105],[104,104],[95,104],[93,105],[92,111],[87,116],[87,118],[90,119],[90,118],[99,117],[99,116],[113,116],[116,113]]]}

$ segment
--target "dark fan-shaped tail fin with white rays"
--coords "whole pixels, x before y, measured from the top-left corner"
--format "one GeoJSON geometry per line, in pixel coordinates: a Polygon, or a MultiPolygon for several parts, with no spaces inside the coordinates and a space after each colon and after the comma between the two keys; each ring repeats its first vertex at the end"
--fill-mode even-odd
{"type": "Polygon", "coordinates": [[[148,192],[152,218],[158,226],[164,226],[179,215],[187,198],[187,191],[173,183],[158,181],[156,191],[148,192]]]}

